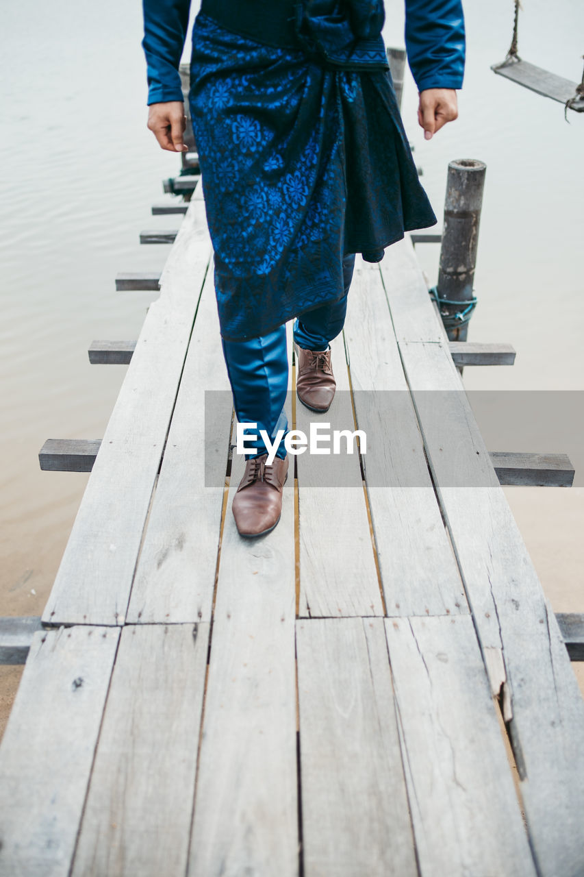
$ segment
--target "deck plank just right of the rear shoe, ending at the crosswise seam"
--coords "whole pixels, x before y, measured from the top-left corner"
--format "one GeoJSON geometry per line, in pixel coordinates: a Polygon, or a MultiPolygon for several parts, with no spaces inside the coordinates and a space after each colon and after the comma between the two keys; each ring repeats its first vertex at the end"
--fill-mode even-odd
{"type": "MultiPolygon", "coordinates": [[[[355,267],[345,322],[353,403],[388,615],[468,612],[379,271],[355,267]]],[[[301,508],[302,515],[302,508],[301,508]]]]}

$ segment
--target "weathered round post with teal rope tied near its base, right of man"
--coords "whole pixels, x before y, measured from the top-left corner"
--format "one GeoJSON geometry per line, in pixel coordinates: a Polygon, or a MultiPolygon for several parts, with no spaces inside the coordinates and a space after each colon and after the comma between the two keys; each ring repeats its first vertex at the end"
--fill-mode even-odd
{"type": "Polygon", "coordinates": [[[475,159],[459,159],[448,165],[436,295],[451,341],[466,341],[474,308],[474,266],[486,170],[487,165],[475,159]]]}

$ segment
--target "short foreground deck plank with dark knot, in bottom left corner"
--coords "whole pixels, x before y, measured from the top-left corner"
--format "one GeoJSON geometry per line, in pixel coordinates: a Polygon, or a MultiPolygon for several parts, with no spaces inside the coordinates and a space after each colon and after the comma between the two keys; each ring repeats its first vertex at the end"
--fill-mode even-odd
{"type": "Polygon", "coordinates": [[[42,631],[0,746],[0,873],[67,877],[118,628],[42,631]]]}

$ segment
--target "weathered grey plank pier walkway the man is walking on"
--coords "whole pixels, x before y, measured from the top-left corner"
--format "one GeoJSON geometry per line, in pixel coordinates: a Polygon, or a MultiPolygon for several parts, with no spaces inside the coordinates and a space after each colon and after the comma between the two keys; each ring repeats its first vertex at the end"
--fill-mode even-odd
{"type": "Polygon", "coordinates": [[[411,239],[332,345],[320,420],[367,453],[336,486],[296,457],[253,541],[200,187],[132,282],[160,295],[93,346],[129,365],[0,748],[0,874],[581,877],[584,702],[411,239]]]}

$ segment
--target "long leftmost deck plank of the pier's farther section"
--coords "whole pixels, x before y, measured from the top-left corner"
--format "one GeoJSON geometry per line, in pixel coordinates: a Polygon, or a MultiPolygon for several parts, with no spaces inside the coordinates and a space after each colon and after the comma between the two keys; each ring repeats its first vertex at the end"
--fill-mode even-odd
{"type": "Polygon", "coordinates": [[[46,624],[121,624],[210,260],[194,203],[168,257],[46,604],[46,624]]]}

